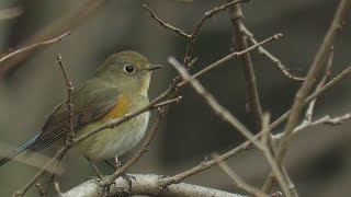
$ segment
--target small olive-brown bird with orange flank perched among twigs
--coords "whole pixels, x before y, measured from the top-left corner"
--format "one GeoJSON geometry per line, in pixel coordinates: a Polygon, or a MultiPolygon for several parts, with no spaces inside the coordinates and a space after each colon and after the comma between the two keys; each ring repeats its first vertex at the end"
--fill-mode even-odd
{"type": "MultiPolygon", "coordinates": [[[[147,105],[151,71],[158,68],[161,66],[149,63],[143,55],[135,51],[111,55],[91,79],[71,93],[75,137],[147,105]]],[[[149,116],[149,112],[143,113],[115,128],[104,129],[75,147],[92,160],[121,157],[141,140],[149,116]]],[[[22,152],[37,152],[56,141],[64,141],[69,118],[67,103],[59,104],[48,116],[42,131],[10,155],[2,158],[0,166],[22,152]]]]}

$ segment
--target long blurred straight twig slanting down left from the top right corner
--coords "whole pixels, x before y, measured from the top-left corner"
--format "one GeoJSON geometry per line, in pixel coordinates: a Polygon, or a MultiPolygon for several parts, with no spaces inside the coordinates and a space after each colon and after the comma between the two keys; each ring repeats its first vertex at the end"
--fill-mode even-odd
{"type": "MultiPolygon", "coordinates": [[[[314,61],[310,66],[310,69],[307,73],[306,80],[303,82],[301,89],[297,91],[295,95],[295,100],[292,106],[292,112],[288,117],[287,124],[284,129],[284,136],[282,140],[279,143],[278,151],[276,151],[276,163],[281,166],[283,163],[283,159],[285,157],[285,153],[290,147],[291,140],[292,140],[292,134],[293,130],[298,121],[299,115],[302,113],[305,100],[312,89],[312,86],[315,83],[315,79],[318,76],[324,62],[325,57],[327,57],[327,54],[329,51],[329,48],[332,46],[332,43],[337,36],[337,34],[340,32],[341,26],[343,25],[343,21],[347,16],[347,13],[349,11],[351,1],[349,0],[341,0],[340,4],[338,7],[338,10],[336,12],[335,19],[327,32],[327,35],[324,38],[322,44],[320,45],[314,61]]],[[[265,192],[270,190],[272,188],[272,182],[269,181],[264,185],[265,192]]]]}

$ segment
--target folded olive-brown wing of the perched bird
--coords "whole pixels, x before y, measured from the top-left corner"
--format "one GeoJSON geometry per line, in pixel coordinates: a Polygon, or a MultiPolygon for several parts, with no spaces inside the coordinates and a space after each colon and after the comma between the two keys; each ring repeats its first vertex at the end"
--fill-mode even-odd
{"type": "MultiPolygon", "coordinates": [[[[71,119],[73,131],[76,132],[109,113],[116,105],[117,95],[118,92],[114,88],[97,88],[89,83],[75,91],[72,93],[73,115],[71,119]]],[[[61,103],[48,116],[41,135],[29,150],[38,151],[64,139],[67,129],[69,129],[69,118],[67,103],[61,103]]]]}

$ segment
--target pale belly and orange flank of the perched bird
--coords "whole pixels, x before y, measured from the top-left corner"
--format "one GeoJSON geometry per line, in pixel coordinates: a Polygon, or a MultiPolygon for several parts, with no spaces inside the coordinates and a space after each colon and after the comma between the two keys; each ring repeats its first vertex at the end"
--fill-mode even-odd
{"type": "MultiPolygon", "coordinates": [[[[139,101],[139,103],[131,103],[126,96],[120,95],[117,104],[101,120],[89,125],[82,132],[88,132],[111,119],[133,113],[148,103],[147,97],[134,97],[133,101],[139,101]]],[[[150,113],[145,112],[115,128],[104,129],[79,143],[78,149],[91,159],[104,160],[115,155],[121,157],[141,140],[149,121],[149,116],[150,113]]]]}

